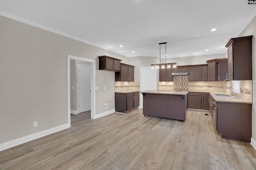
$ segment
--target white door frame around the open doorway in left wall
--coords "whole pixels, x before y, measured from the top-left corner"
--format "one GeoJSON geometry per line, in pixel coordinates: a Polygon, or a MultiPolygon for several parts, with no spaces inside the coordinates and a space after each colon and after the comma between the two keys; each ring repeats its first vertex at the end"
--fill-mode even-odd
{"type": "Polygon", "coordinates": [[[91,119],[95,119],[96,117],[96,61],[92,59],[86,59],[82,57],[75,57],[72,55],[67,55],[67,68],[68,68],[68,78],[67,78],[67,85],[68,85],[68,126],[71,126],[71,119],[70,119],[70,60],[78,60],[78,61],[86,61],[91,63],[91,119]]]}

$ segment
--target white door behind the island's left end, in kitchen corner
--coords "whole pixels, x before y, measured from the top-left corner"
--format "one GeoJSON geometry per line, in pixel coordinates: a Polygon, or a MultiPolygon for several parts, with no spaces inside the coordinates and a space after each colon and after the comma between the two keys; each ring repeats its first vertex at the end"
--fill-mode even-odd
{"type": "MultiPolygon", "coordinates": [[[[140,67],[140,91],[157,90],[156,69],[140,67]]],[[[140,93],[140,108],[143,107],[143,96],[140,93]]]]}

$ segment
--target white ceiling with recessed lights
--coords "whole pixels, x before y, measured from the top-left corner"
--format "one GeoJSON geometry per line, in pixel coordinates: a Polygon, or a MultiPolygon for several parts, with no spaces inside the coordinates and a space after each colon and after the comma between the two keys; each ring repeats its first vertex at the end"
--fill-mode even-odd
{"type": "MultiPolygon", "coordinates": [[[[170,58],[226,52],[228,40],[256,16],[256,5],[247,0],[0,0],[0,15],[126,57],[159,57],[158,43],[167,42],[170,58]]],[[[164,57],[164,45],[161,53],[164,57]]]]}

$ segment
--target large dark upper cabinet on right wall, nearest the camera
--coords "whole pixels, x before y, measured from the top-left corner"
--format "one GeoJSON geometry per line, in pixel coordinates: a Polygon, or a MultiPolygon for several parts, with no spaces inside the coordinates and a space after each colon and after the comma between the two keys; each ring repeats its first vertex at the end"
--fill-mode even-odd
{"type": "Polygon", "coordinates": [[[228,79],[252,80],[252,35],[231,38],[228,48],[228,79]]]}

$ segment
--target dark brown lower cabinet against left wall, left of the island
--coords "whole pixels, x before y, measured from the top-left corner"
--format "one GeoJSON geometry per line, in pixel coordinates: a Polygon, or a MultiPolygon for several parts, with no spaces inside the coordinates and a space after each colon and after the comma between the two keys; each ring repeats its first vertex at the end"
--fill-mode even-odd
{"type": "Polygon", "coordinates": [[[128,111],[138,107],[140,104],[139,92],[115,93],[115,109],[118,112],[128,111]]]}

